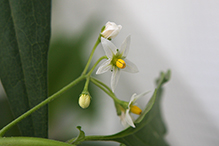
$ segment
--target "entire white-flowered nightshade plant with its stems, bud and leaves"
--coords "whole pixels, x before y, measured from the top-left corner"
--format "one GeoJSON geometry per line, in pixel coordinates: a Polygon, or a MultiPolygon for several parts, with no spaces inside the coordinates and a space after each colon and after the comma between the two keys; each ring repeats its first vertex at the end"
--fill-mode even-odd
{"type": "MultiPolygon", "coordinates": [[[[131,99],[122,101],[116,96],[115,88],[120,71],[138,72],[137,67],[127,60],[131,36],[117,49],[112,43],[121,25],[107,22],[99,32],[82,74],[58,92],[47,97],[47,54],[50,40],[49,0],[3,0],[0,2],[0,78],[8,96],[15,119],[0,130],[0,145],[14,146],[67,146],[83,144],[83,141],[115,141],[127,146],[168,145],[164,139],[166,128],[161,117],[160,100],[162,86],[170,79],[170,71],[161,72],[156,80],[156,89],[142,111],[135,103],[147,92],[133,94],[131,99]],[[94,52],[102,44],[106,56],[100,57],[91,66],[94,52]],[[99,63],[105,59],[100,66],[99,63]],[[92,76],[112,71],[111,88],[92,76]],[[90,70],[89,70],[90,67],[90,70]],[[91,103],[89,84],[103,90],[114,101],[117,115],[126,127],[119,133],[107,136],[86,136],[78,126],[79,135],[66,142],[49,140],[47,104],[85,80],[78,103],[87,108],[91,103]],[[139,115],[134,120],[131,113],[139,115]],[[5,133],[18,124],[21,137],[4,137],[5,133]]],[[[95,98],[93,99],[95,100],[95,98]]],[[[1,117],[2,118],[2,117],[1,117]]]]}

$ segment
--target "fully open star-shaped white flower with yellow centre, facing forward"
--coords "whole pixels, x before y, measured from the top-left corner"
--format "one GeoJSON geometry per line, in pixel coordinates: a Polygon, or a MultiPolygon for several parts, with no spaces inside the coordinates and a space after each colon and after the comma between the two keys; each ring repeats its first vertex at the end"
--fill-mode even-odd
{"type": "Polygon", "coordinates": [[[108,60],[101,64],[96,74],[102,74],[108,70],[113,72],[111,77],[111,88],[113,92],[120,77],[120,70],[130,73],[138,72],[138,68],[135,66],[135,64],[126,59],[130,47],[130,40],[131,36],[129,35],[122,43],[122,46],[119,50],[111,41],[101,37],[101,43],[108,60]]]}

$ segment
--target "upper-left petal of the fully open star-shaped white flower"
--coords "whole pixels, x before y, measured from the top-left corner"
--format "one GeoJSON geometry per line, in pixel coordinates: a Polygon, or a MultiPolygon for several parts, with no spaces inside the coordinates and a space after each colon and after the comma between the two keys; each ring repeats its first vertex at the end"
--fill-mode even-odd
{"type": "Polygon", "coordinates": [[[106,56],[109,59],[113,58],[113,54],[116,54],[116,46],[111,43],[109,40],[101,37],[101,43],[103,45],[103,49],[105,51],[106,56]]]}

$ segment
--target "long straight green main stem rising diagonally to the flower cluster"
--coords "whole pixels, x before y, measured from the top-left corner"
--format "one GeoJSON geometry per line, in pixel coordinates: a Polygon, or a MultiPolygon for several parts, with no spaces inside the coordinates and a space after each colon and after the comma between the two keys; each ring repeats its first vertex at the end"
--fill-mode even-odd
{"type": "Polygon", "coordinates": [[[78,77],[77,79],[75,79],[74,81],[72,81],[70,84],[68,84],[67,86],[63,87],[61,90],[59,90],[58,92],[56,92],[55,94],[51,95],[50,97],[48,97],[46,100],[42,101],[41,103],[39,103],[38,105],[36,105],[35,107],[33,107],[32,109],[30,109],[29,111],[25,112],[24,114],[22,114],[21,116],[19,116],[18,118],[16,118],[15,120],[13,120],[11,123],[9,123],[8,125],[6,125],[5,127],[3,127],[0,130],[0,137],[2,137],[5,132],[7,130],[9,130],[12,126],[14,126],[15,124],[17,124],[18,122],[20,122],[21,120],[23,120],[24,118],[26,118],[27,116],[29,116],[31,113],[35,112],[36,110],[38,110],[39,108],[41,108],[42,106],[48,104],[49,102],[51,102],[52,100],[54,100],[56,97],[60,96],[61,94],[63,94],[65,91],[67,91],[69,88],[71,88],[72,86],[76,85],[77,83],[79,83],[80,81],[82,81],[83,79],[85,79],[86,76],[82,75],[80,77],[78,77]]]}

